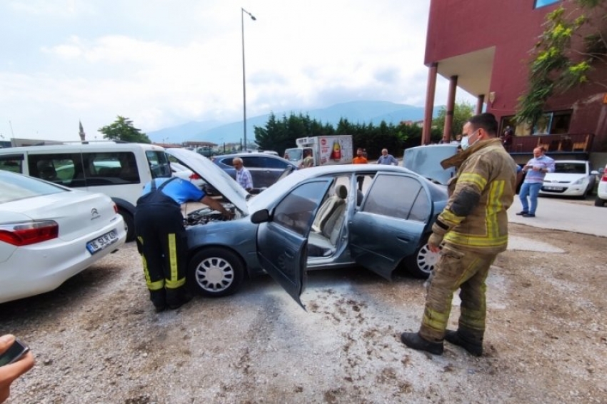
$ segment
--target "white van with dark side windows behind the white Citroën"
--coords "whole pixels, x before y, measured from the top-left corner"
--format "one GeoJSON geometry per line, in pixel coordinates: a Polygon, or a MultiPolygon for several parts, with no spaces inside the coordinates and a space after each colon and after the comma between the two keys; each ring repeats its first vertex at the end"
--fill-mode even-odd
{"type": "Polygon", "coordinates": [[[135,206],[144,185],[151,178],[171,176],[164,148],[118,141],[2,148],[0,170],[105,193],[114,200],[124,218],[127,241],[134,239],[135,206]]]}

